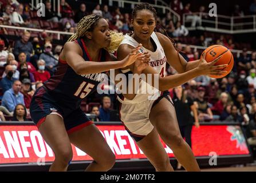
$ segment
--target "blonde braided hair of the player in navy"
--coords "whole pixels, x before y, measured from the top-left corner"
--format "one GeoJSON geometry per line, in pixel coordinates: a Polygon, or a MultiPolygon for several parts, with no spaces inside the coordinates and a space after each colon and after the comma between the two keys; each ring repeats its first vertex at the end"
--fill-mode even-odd
{"type": "MultiPolygon", "coordinates": [[[[85,37],[86,31],[93,31],[93,29],[97,26],[97,23],[100,19],[103,18],[99,15],[87,15],[82,18],[77,25],[77,31],[74,35],[72,35],[68,41],[74,41],[77,38],[85,37]]],[[[116,33],[115,31],[109,31],[111,37],[111,43],[105,49],[109,52],[113,52],[117,50],[117,47],[123,41],[123,33],[116,33]]]]}

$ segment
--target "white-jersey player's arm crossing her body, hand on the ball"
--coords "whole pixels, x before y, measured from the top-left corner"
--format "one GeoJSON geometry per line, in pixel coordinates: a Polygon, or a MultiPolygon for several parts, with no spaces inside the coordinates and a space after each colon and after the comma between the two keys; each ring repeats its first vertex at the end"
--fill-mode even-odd
{"type": "MultiPolygon", "coordinates": [[[[123,44],[119,46],[119,49],[117,50],[117,59],[123,59],[126,57],[126,55],[131,51],[133,47],[127,44],[123,44]]],[[[221,57],[221,56],[220,56],[221,57]]],[[[155,78],[154,75],[157,74],[157,79],[156,81],[158,82],[158,89],[160,91],[165,91],[169,90],[170,88],[177,87],[180,85],[183,85],[187,81],[189,81],[192,78],[198,77],[199,75],[221,75],[225,73],[225,71],[220,71],[218,70],[219,68],[222,68],[223,66],[214,66],[216,62],[218,62],[219,58],[216,58],[212,62],[206,62],[205,60],[205,54],[203,54],[202,58],[200,59],[198,67],[195,67],[194,69],[188,70],[184,73],[180,74],[175,74],[175,75],[168,75],[167,77],[160,77],[160,75],[156,72],[153,67],[148,65],[142,73],[144,74],[151,74],[151,84],[152,86],[157,86],[155,85],[155,78]]],[[[122,70],[125,69],[131,69],[133,72],[135,70],[134,68],[134,63],[132,65],[129,65],[125,67],[122,70]]]]}

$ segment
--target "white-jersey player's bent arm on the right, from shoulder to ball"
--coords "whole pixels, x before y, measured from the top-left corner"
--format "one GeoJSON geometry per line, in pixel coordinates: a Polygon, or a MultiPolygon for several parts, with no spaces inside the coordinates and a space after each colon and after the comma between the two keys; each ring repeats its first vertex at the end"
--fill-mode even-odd
{"type": "Polygon", "coordinates": [[[163,35],[161,33],[156,33],[156,35],[164,49],[164,53],[167,57],[167,62],[170,66],[174,67],[174,69],[178,71],[178,73],[184,73],[188,70],[195,69],[199,65],[200,59],[192,62],[187,62],[182,57],[182,55],[178,53],[171,40],[166,35],[163,35]]]}

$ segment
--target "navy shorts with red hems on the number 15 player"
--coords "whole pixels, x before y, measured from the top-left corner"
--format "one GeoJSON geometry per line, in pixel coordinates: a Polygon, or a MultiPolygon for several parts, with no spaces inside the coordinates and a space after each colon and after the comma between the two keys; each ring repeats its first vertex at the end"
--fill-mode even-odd
{"type": "Polygon", "coordinates": [[[63,118],[68,134],[93,124],[80,108],[68,105],[68,102],[57,101],[56,97],[51,96],[45,86],[42,86],[37,89],[31,100],[30,116],[39,128],[49,114],[57,114],[63,118]]]}

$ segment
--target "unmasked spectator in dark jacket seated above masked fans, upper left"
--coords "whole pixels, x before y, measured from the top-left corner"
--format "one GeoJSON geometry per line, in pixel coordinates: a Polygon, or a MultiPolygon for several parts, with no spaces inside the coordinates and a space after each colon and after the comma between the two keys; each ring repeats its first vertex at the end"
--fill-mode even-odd
{"type": "Polygon", "coordinates": [[[29,39],[29,31],[24,31],[21,39],[15,41],[13,49],[13,54],[15,55],[15,58],[18,58],[18,55],[23,52],[26,54],[27,61],[30,61],[30,57],[33,56],[33,45],[29,41],[29,39]]]}

